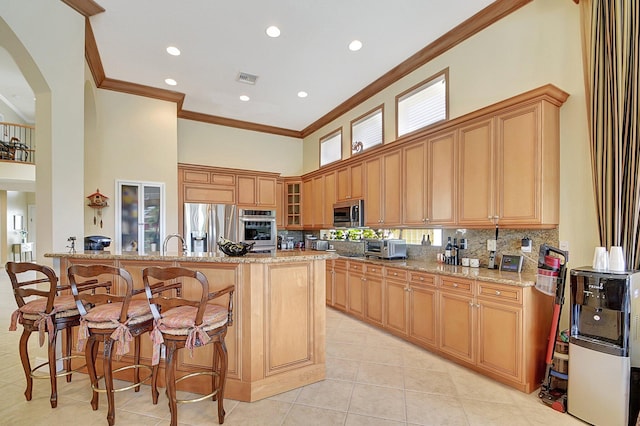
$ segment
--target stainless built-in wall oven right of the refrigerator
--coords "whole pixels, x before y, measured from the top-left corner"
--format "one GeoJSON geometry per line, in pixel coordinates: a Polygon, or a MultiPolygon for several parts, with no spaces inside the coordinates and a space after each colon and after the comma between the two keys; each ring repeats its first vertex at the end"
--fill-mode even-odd
{"type": "Polygon", "coordinates": [[[277,229],[275,210],[240,209],[238,215],[240,240],[255,243],[254,252],[276,249],[277,229]]]}

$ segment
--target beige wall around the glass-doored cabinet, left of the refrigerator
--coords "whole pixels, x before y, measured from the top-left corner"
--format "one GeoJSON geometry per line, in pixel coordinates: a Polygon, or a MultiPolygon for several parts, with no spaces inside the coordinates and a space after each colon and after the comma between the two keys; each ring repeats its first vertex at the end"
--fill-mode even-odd
{"type": "Polygon", "coordinates": [[[115,241],[117,180],[164,183],[166,231],[178,232],[176,104],[96,90],[89,79],[85,114],[84,195],[100,189],[110,197],[110,206],[103,209],[102,228],[94,225],[94,212],[85,202],[85,234],[106,235],[115,241]]]}

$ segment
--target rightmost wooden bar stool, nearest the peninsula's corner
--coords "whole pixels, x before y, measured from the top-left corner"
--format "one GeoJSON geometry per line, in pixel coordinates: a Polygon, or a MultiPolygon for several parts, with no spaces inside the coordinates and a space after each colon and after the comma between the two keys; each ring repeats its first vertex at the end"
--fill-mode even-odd
{"type": "MultiPolygon", "coordinates": [[[[160,361],[160,348],[166,347],[165,380],[166,393],[169,399],[171,425],[178,424],[178,403],[197,402],[212,398],[218,401],[218,422],[224,423],[224,386],[227,375],[227,347],[224,338],[227,327],[232,325],[234,286],[222,290],[209,292],[209,282],[202,272],[186,268],[169,267],[146,268],[142,271],[142,278],[149,304],[153,312],[154,328],[151,334],[153,340],[153,383],[154,394],[157,389],[157,371],[160,361]],[[186,300],[179,297],[154,297],[165,289],[173,288],[175,280],[192,279],[202,287],[200,300],[186,300]],[[225,305],[209,303],[225,295],[225,305]],[[198,371],[176,378],[176,351],[193,348],[212,343],[214,345],[212,366],[210,370],[198,371]],[[199,375],[211,376],[211,393],[199,398],[179,400],[176,397],[176,384],[182,380],[199,375]]],[[[224,299],[223,299],[224,300],[224,299]]]]}

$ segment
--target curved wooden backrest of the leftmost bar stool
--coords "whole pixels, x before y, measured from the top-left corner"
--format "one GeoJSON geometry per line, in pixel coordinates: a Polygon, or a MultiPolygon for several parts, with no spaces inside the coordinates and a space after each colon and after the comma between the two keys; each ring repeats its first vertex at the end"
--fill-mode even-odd
{"type": "Polygon", "coordinates": [[[45,297],[47,298],[45,312],[51,313],[56,294],[62,289],[58,287],[58,277],[53,269],[30,262],[7,262],[5,269],[11,280],[18,308],[28,302],[26,298],[45,297]],[[45,283],[48,285],[44,285],[45,283]]]}

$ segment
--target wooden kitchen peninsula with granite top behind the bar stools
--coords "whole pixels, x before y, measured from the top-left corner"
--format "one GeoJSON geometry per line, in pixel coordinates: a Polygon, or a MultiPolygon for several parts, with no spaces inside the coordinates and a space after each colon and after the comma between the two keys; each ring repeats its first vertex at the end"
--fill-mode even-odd
{"type": "MultiPolygon", "coordinates": [[[[48,253],[45,257],[54,259],[62,284],[68,284],[69,266],[99,263],[125,268],[133,277],[134,289],[144,287],[142,270],[149,266],[197,269],[207,276],[211,291],[235,285],[233,325],[225,340],[227,398],[256,401],[325,378],[325,261],[337,257],[335,254],[296,250],[227,257],[98,252],[48,253]]],[[[183,297],[192,298],[194,290],[186,287],[183,297]]],[[[151,364],[151,349],[150,340],[143,337],[145,364],[151,364]]],[[[185,353],[178,360],[178,374],[199,370],[210,365],[211,359],[211,346],[195,349],[193,357],[185,353]]],[[[131,363],[132,357],[124,356],[114,361],[114,367],[131,363]]],[[[163,378],[161,372],[160,386],[164,386],[163,378]]],[[[182,382],[179,389],[206,393],[209,380],[207,376],[194,378],[182,382]]]]}

